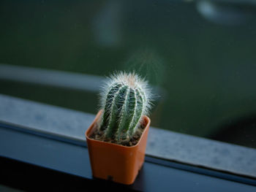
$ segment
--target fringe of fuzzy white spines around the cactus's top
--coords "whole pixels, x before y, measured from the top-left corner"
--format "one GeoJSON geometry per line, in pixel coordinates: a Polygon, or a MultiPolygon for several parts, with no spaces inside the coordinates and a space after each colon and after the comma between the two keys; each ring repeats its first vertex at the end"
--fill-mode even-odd
{"type": "Polygon", "coordinates": [[[104,109],[106,97],[109,91],[109,88],[114,83],[121,83],[122,85],[128,85],[129,88],[140,88],[141,91],[145,94],[145,106],[143,107],[143,115],[148,115],[149,110],[152,107],[153,95],[151,93],[151,88],[148,85],[148,81],[145,80],[144,77],[140,77],[140,75],[133,72],[113,72],[107,77],[104,85],[102,85],[100,95],[99,107],[100,109],[104,109]]]}

